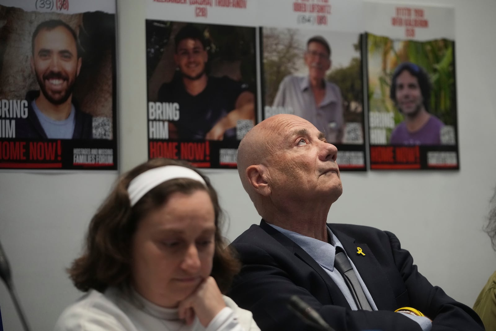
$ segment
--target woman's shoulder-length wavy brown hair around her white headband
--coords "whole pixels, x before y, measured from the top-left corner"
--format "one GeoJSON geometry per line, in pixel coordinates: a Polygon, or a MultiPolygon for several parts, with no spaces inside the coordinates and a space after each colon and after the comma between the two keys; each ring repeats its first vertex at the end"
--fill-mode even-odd
{"type": "Polygon", "coordinates": [[[140,164],[117,180],[109,197],[91,219],[82,255],[67,269],[74,286],[84,292],[90,289],[103,292],[109,286],[128,288],[131,282],[131,240],[138,222],[163,206],[172,194],[191,194],[197,190],[206,191],[214,206],[216,231],[211,276],[225,293],[241,264],[221,235],[223,214],[217,193],[209,179],[186,162],[163,158],[140,164]],[[153,188],[131,207],[127,194],[129,182],[149,169],[166,165],[179,165],[196,171],[205,180],[206,187],[191,179],[173,179],[153,188]]]}

